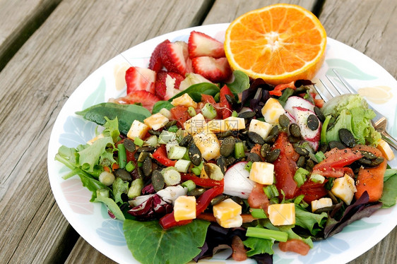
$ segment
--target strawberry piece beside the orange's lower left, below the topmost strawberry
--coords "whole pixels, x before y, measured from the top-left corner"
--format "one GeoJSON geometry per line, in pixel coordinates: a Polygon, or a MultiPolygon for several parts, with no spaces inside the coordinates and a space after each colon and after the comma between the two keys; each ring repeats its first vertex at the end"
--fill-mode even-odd
{"type": "Polygon", "coordinates": [[[227,80],[232,74],[225,57],[214,59],[211,56],[201,56],[191,59],[194,73],[198,73],[213,83],[227,80]]]}

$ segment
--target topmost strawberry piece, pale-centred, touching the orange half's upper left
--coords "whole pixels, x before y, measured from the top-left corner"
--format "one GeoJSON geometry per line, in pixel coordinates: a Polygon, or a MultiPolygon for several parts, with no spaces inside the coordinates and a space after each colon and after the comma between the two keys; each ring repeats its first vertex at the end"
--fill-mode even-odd
{"type": "Polygon", "coordinates": [[[192,31],[187,42],[189,56],[212,56],[215,59],[225,56],[223,43],[202,32],[192,31]]]}

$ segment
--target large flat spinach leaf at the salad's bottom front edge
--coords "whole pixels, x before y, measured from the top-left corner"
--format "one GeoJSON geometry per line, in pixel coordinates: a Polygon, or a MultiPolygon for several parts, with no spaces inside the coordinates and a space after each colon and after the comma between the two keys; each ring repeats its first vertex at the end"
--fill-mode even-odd
{"type": "Polygon", "coordinates": [[[210,223],[194,220],[182,227],[164,230],[158,221],[124,221],[124,236],[132,255],[140,263],[187,263],[203,246],[210,223]]]}

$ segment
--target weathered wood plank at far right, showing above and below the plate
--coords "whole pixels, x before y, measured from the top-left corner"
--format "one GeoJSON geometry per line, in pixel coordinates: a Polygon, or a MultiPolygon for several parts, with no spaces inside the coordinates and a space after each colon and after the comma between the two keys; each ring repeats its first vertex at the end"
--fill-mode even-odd
{"type": "MultiPolygon", "coordinates": [[[[324,4],[321,23],[328,37],[369,56],[397,78],[397,1],[331,1],[324,4]]],[[[350,264],[397,263],[397,228],[350,264]]]]}

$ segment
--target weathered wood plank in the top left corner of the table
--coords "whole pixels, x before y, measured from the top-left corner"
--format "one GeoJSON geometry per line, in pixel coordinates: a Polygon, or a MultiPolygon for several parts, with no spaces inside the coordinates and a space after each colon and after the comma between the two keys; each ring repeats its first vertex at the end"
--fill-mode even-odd
{"type": "Polygon", "coordinates": [[[0,71],[60,1],[0,1],[0,71]]]}

